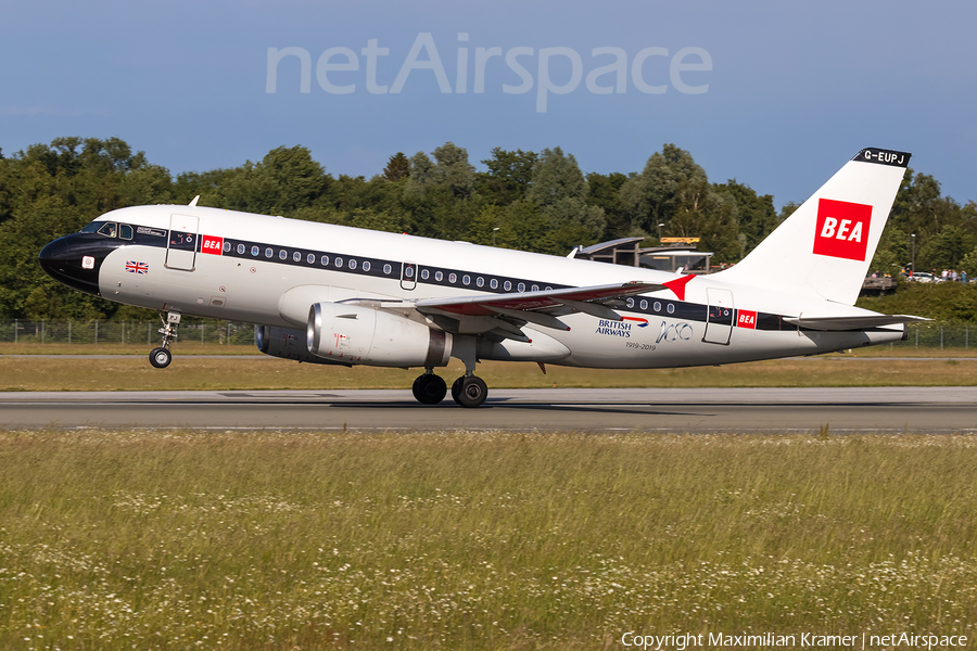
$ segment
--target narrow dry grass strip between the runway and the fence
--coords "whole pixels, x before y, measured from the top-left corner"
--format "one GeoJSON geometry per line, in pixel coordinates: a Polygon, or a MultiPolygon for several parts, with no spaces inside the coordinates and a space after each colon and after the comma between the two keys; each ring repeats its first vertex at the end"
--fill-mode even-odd
{"type": "MultiPolygon", "coordinates": [[[[452,360],[439,373],[461,375],[452,360]]],[[[0,391],[408,388],[419,369],[325,367],[276,358],[177,356],[166,369],[140,357],[0,357],[0,391]]],[[[690,369],[613,371],[483,362],[491,388],[698,386],[973,386],[977,360],[811,357],[690,369]]]]}

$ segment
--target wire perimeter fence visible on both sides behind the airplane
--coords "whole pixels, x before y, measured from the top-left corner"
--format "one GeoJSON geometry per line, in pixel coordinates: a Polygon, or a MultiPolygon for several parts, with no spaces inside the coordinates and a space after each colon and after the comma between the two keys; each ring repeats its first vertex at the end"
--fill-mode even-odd
{"type": "MultiPolygon", "coordinates": [[[[156,345],[160,321],[0,321],[0,343],[144,344],[156,345]]],[[[180,344],[255,345],[254,326],[241,321],[203,321],[180,324],[180,344]]],[[[964,348],[977,346],[977,323],[928,321],[912,323],[909,337],[889,347],[964,348]],[[974,334],[970,334],[974,331],[974,334]]]]}

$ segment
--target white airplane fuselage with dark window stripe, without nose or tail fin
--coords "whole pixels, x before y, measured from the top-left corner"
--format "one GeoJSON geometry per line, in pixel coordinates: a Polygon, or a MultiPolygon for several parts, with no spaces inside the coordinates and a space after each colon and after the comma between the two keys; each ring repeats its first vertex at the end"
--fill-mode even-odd
{"type": "MultiPolygon", "coordinates": [[[[350,299],[448,298],[616,282],[664,283],[673,273],[605,263],[445,242],[196,206],[142,206],[99,218],[131,225],[131,244],[102,263],[104,298],[156,310],[303,329],[300,294],[350,299]],[[183,250],[167,232],[186,231],[183,250]],[[155,233],[155,234],[154,234],[155,233]],[[506,285],[506,283],[511,283],[506,285]],[[520,288],[520,283],[524,286],[520,288]],[[507,289],[508,286],[508,289],[507,289]]],[[[811,290],[771,292],[700,276],[672,290],[636,296],[616,309],[623,321],[574,312],[569,331],[530,323],[530,336],[569,350],[551,363],[592,368],[667,368],[812,355],[902,339],[903,327],[820,332],[783,322],[803,315],[872,314],[811,290]]],[[[483,355],[484,357],[484,355],[483,355]]],[[[526,359],[528,357],[521,357],[526,359]]]]}

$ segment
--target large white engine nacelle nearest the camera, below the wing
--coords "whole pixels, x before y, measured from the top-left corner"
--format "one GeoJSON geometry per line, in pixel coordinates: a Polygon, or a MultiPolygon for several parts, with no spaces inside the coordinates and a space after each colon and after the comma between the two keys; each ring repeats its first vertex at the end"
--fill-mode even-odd
{"type": "Polygon", "coordinates": [[[442,367],[452,335],[369,307],[316,303],[308,310],[308,350],[344,363],[442,367]]]}

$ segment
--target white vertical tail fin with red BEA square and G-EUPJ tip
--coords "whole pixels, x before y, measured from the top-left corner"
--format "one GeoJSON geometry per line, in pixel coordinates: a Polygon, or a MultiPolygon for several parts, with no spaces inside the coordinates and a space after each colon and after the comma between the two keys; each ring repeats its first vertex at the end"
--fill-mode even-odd
{"type": "Polygon", "coordinates": [[[910,155],[860,151],[741,263],[729,282],[784,292],[811,290],[854,305],[910,155]]]}

